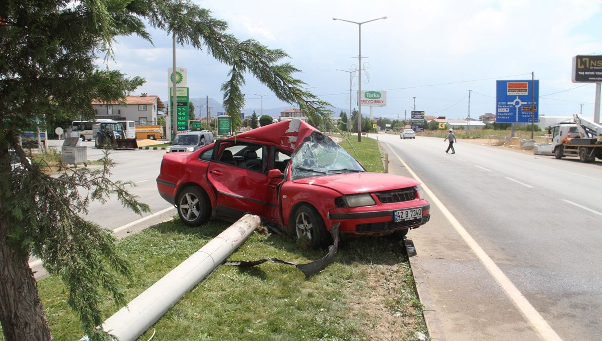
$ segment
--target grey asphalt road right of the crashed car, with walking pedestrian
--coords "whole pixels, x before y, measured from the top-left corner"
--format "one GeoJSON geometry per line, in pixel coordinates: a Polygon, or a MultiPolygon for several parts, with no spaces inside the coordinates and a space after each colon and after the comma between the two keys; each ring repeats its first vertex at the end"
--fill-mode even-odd
{"type": "Polygon", "coordinates": [[[389,172],[415,174],[432,204],[408,238],[441,339],[600,339],[601,161],[462,140],[452,155],[443,138],[378,138],[389,172]]]}

